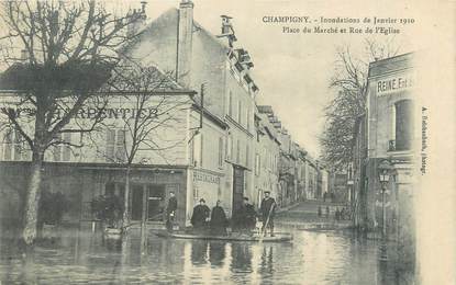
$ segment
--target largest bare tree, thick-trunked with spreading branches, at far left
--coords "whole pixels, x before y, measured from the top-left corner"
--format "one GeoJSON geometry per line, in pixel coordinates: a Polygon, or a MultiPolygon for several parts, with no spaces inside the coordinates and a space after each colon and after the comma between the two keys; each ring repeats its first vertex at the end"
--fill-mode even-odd
{"type": "MultiPolygon", "coordinates": [[[[2,89],[18,92],[13,105],[1,109],[11,128],[20,133],[32,151],[21,239],[31,246],[36,237],[36,214],[45,151],[62,140],[62,134],[90,133],[100,122],[70,127],[69,122],[93,98],[116,65],[116,49],[134,35],[126,29],[142,19],[141,12],[116,18],[93,0],[8,1],[1,3],[2,89]],[[22,55],[18,56],[21,50],[22,55]],[[29,109],[27,116],[20,107],[29,109]],[[24,117],[33,121],[27,127],[24,117]]],[[[98,109],[102,110],[101,107],[98,109]]],[[[29,122],[30,123],[30,122],[29,122]]]]}

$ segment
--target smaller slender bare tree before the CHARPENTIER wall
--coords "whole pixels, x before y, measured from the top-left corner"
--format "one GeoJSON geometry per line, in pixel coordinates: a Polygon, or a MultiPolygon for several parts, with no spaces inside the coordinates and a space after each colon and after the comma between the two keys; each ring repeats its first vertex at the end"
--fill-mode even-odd
{"type": "MultiPolygon", "coordinates": [[[[154,163],[151,153],[162,156],[178,145],[187,145],[186,136],[169,139],[163,137],[166,130],[173,130],[191,106],[192,98],[187,91],[171,79],[170,72],[163,72],[156,67],[143,67],[134,60],[125,59],[113,70],[109,80],[110,95],[124,100],[125,105],[134,110],[130,116],[123,116],[121,122],[103,122],[107,130],[121,132],[120,149],[115,153],[107,153],[105,148],[97,141],[96,133],[91,140],[97,146],[99,155],[107,160],[118,163],[125,169],[124,206],[122,215],[123,237],[127,236],[131,214],[131,172],[134,164],[154,163]],[[180,115],[180,116],[179,116],[180,115]]],[[[118,145],[119,146],[119,145],[118,145]]],[[[166,161],[166,157],[163,156],[166,161]]],[[[145,195],[145,192],[144,192],[145,195]]],[[[146,197],[143,197],[146,201],[146,197]]],[[[145,233],[146,213],[143,205],[142,236],[145,233]]],[[[144,238],[144,237],[143,237],[144,238]]],[[[144,240],[144,239],[143,239],[144,240]]]]}

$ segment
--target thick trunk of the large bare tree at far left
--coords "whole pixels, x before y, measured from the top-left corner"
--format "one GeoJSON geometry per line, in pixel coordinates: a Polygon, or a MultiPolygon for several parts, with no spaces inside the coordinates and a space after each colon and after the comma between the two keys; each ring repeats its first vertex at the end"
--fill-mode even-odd
{"type": "Polygon", "coordinates": [[[32,246],[36,238],[40,190],[43,175],[44,151],[34,153],[31,175],[25,196],[22,240],[25,246],[32,246]]]}

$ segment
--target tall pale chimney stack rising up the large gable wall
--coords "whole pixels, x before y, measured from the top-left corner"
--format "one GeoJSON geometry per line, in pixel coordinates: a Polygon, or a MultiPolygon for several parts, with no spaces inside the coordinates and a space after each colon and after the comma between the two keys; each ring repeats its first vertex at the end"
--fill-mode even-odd
{"type": "Polygon", "coordinates": [[[190,87],[191,46],[193,32],[193,2],[182,0],[179,4],[176,81],[190,87]]]}

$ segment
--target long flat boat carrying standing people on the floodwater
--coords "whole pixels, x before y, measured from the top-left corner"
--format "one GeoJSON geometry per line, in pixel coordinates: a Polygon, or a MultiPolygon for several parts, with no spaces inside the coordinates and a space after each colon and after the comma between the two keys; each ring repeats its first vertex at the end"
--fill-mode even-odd
{"type": "Polygon", "coordinates": [[[211,235],[193,235],[187,232],[156,232],[158,237],[174,239],[202,239],[202,240],[224,240],[224,241],[263,241],[263,242],[286,242],[293,239],[291,233],[280,232],[274,237],[260,237],[258,235],[229,235],[229,236],[211,236],[211,235]]]}

